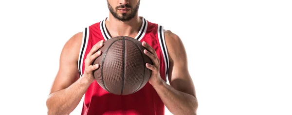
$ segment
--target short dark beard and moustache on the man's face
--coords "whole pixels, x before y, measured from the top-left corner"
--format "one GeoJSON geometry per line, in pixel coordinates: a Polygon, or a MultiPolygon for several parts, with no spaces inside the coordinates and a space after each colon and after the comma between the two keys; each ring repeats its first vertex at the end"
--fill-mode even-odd
{"type": "Polygon", "coordinates": [[[114,10],[112,8],[112,6],[110,5],[110,3],[108,2],[108,7],[110,10],[110,13],[113,15],[114,18],[116,18],[120,21],[129,21],[130,19],[134,18],[137,14],[138,9],[139,9],[139,5],[140,5],[140,0],[138,1],[137,5],[134,8],[132,8],[132,6],[129,6],[128,4],[126,4],[126,5],[117,6],[114,10]],[[117,13],[119,8],[130,8],[132,10],[131,10],[130,14],[122,13],[122,15],[119,15],[117,13]]]}

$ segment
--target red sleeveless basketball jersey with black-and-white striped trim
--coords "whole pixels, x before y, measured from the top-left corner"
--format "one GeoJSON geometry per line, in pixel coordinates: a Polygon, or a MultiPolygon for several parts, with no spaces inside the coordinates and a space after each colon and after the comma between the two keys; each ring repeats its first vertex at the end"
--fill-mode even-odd
{"type": "MultiPolygon", "coordinates": [[[[164,41],[163,26],[151,23],[144,17],[141,29],[135,39],[145,41],[156,51],[160,59],[160,76],[166,80],[168,55],[164,41]]],[[[92,46],[101,40],[109,40],[105,20],[95,23],[83,31],[83,40],[79,53],[78,69],[84,73],[84,60],[92,46]]],[[[114,76],[112,76],[114,77],[114,76]]],[[[94,81],[85,93],[81,115],[164,115],[164,103],[149,83],[136,93],[114,95],[94,81]]]]}

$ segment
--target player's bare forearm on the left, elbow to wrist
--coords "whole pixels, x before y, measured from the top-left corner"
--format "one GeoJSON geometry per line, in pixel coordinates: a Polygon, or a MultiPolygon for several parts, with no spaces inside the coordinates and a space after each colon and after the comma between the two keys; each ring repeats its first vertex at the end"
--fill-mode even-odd
{"type": "Polygon", "coordinates": [[[50,94],[47,100],[48,115],[69,115],[90,85],[88,80],[80,77],[71,86],[50,94]]]}

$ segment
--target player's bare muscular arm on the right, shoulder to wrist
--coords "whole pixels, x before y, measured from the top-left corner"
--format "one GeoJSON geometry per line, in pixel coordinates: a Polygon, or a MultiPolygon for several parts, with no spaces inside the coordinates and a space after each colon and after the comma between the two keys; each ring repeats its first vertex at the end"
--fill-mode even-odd
{"type": "Polygon", "coordinates": [[[174,115],[196,115],[198,101],[195,87],[188,72],[187,56],[181,39],[171,31],[165,31],[165,43],[169,55],[169,84],[161,80],[152,85],[164,105],[174,115]]]}

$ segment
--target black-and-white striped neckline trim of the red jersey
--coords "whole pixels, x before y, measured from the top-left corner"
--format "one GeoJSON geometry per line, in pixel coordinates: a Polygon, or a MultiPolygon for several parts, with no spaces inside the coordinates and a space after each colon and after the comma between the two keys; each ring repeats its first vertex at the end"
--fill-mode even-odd
{"type": "MultiPolygon", "coordinates": [[[[99,27],[100,27],[100,30],[101,30],[101,33],[102,33],[104,39],[107,41],[111,37],[110,37],[110,34],[108,33],[107,28],[106,28],[106,23],[105,23],[106,20],[107,20],[107,18],[102,20],[99,24],[99,27]]],[[[147,27],[148,27],[148,22],[146,21],[146,19],[144,17],[142,17],[142,26],[141,26],[138,34],[135,36],[135,39],[140,41],[144,37],[146,30],[147,30],[147,27]]]]}

